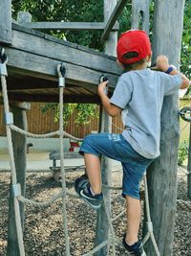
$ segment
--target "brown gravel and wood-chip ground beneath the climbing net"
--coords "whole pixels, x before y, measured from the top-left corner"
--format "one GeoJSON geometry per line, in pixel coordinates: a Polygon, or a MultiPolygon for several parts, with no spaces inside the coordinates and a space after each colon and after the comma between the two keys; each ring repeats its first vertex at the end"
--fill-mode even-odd
{"type": "MultiPolygon", "coordinates": [[[[78,173],[67,173],[67,187],[74,192],[74,179],[78,173]]],[[[114,172],[115,185],[120,185],[120,172],[114,172]]],[[[7,219],[10,174],[0,172],[0,255],[6,255],[7,219]]],[[[46,200],[60,192],[60,184],[53,180],[49,172],[28,173],[27,198],[46,200]]],[[[116,192],[118,193],[118,192],[116,192]]],[[[178,198],[188,200],[186,196],[185,176],[179,176],[178,198]]],[[[26,256],[61,256],[64,255],[64,233],[61,200],[58,199],[46,208],[26,206],[24,244],[26,256]]],[[[116,198],[112,202],[113,217],[123,209],[124,201],[116,198]]],[[[96,214],[83,201],[76,198],[67,199],[69,237],[71,254],[74,256],[88,252],[94,246],[96,214]]],[[[176,214],[174,255],[191,255],[191,214],[178,208],[176,214]]],[[[124,217],[115,221],[118,238],[124,233],[124,217]]],[[[127,255],[117,248],[117,255],[127,255]]],[[[165,255],[168,256],[168,255],[165,255]]]]}

